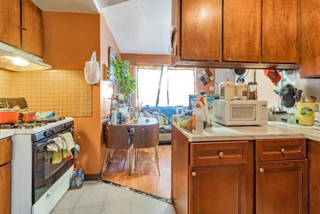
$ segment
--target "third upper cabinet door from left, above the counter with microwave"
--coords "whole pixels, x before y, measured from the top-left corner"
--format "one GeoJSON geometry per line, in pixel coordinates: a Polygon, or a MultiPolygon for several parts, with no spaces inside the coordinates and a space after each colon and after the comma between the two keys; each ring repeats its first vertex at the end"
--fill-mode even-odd
{"type": "Polygon", "coordinates": [[[262,63],[299,64],[299,1],[262,1],[262,63]]]}

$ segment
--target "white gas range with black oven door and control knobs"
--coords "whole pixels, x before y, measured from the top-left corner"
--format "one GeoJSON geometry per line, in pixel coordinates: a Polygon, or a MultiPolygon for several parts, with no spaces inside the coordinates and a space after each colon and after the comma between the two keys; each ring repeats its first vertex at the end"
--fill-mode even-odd
{"type": "MultiPolygon", "coordinates": [[[[25,125],[25,124],[24,124],[25,125]]],[[[73,131],[73,118],[14,127],[11,213],[49,213],[70,186],[73,158],[52,164],[49,141],[73,131]]]]}

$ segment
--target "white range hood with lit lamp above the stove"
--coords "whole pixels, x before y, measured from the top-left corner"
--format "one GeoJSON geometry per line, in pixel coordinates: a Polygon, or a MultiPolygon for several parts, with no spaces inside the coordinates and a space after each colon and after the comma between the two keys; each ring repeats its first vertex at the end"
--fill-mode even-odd
{"type": "Polygon", "coordinates": [[[11,71],[39,71],[51,69],[52,66],[43,63],[42,59],[37,56],[0,42],[0,68],[11,71]],[[27,66],[15,65],[6,57],[19,57],[28,61],[29,64],[27,66]]]}

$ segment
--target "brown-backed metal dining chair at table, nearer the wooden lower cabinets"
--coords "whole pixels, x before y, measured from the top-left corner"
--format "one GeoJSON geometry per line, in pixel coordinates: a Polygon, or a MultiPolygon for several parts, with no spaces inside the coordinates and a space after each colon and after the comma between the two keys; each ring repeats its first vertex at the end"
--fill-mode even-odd
{"type": "Polygon", "coordinates": [[[138,126],[134,128],[134,136],[132,138],[133,151],[131,156],[131,163],[133,153],[135,152],[135,165],[139,162],[139,149],[142,148],[154,148],[154,162],[159,170],[159,157],[158,157],[158,145],[159,145],[159,124],[138,126]]]}

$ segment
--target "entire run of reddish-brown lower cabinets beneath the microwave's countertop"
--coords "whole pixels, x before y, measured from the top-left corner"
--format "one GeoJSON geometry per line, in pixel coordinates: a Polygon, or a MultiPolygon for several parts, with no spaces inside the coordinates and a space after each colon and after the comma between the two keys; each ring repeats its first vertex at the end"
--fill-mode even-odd
{"type": "Polygon", "coordinates": [[[176,213],[318,213],[320,142],[307,146],[304,138],[188,142],[172,126],[176,213]]]}

